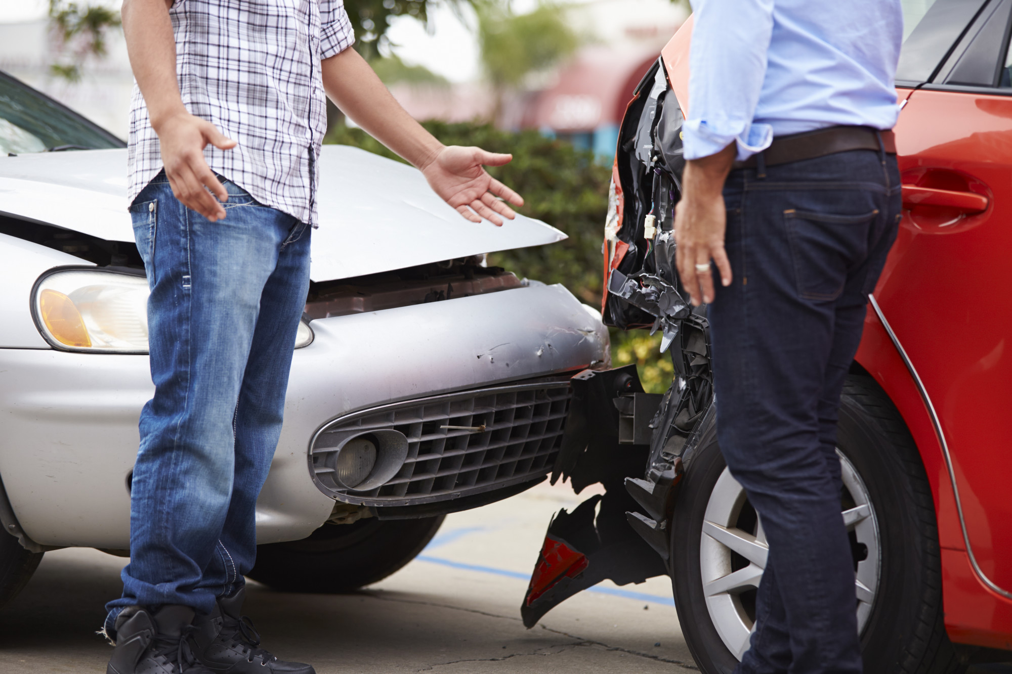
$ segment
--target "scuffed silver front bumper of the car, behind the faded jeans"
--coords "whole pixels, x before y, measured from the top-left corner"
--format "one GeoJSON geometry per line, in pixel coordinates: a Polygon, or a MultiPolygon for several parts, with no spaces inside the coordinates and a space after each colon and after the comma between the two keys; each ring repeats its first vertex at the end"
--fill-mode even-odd
{"type": "MultiPolygon", "coordinates": [[[[330,420],[385,403],[605,365],[607,330],[561,285],[312,323],[296,350],[284,425],[257,503],[259,542],[299,539],[330,516],[308,452],[330,420]]],[[[125,549],[126,477],[153,386],[144,355],[0,349],[0,475],[44,545],[125,549]]]]}

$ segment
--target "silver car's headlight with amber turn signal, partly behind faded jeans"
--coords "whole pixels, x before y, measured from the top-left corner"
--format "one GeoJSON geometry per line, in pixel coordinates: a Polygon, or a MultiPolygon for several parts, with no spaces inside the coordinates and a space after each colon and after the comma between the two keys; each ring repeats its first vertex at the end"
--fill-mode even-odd
{"type": "MultiPolygon", "coordinates": [[[[51,345],[67,351],[148,352],[148,279],[97,269],[43,276],[32,290],[35,325],[51,345]]],[[[300,321],[294,348],[313,341],[300,321]]]]}

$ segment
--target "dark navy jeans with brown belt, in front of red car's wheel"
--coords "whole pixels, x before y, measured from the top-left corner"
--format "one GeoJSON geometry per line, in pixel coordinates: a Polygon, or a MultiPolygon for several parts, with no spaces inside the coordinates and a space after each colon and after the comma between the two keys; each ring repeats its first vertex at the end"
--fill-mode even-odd
{"type": "Polygon", "coordinates": [[[769,542],[737,672],[856,674],[836,422],[866,296],[897,235],[896,158],[852,151],[741,169],[724,197],[735,279],[708,309],[718,440],[769,542]]]}

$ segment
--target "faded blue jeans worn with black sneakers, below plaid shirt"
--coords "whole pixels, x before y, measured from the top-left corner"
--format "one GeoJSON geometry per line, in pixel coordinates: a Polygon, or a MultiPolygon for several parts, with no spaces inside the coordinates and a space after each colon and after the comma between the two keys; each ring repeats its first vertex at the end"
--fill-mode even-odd
{"type": "Polygon", "coordinates": [[[209,612],[256,557],[255,507],[281,430],[309,290],[310,232],[231,181],[212,223],[164,172],[131,205],[151,298],[155,397],[141,413],[131,562],[105,627],[133,604],[209,612]]]}

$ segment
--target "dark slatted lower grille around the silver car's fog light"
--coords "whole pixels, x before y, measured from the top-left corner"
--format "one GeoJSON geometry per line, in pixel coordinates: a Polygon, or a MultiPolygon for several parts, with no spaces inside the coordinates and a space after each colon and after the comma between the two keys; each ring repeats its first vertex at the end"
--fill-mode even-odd
{"type": "Polygon", "coordinates": [[[310,468],[325,494],[346,503],[406,506],[477,494],[545,475],[562,445],[568,381],[502,386],[371,408],[313,438],[310,468]],[[463,428],[444,428],[462,426],[463,428]],[[484,430],[478,430],[484,426],[484,430]],[[333,479],[335,438],[393,429],[408,439],[397,475],[367,492],[333,479]]]}

